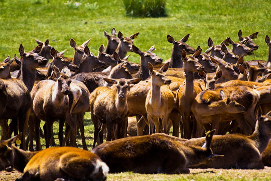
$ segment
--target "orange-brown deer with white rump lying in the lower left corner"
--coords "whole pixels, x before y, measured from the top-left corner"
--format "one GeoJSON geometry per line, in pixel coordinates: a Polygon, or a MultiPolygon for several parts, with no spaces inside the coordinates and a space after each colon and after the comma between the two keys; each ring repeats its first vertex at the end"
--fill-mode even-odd
{"type": "Polygon", "coordinates": [[[74,147],[24,151],[13,145],[21,135],[0,142],[0,170],[24,173],[16,180],[105,180],[108,175],[108,166],[94,153],[74,147]],[[81,166],[72,171],[74,165],[81,166]]]}

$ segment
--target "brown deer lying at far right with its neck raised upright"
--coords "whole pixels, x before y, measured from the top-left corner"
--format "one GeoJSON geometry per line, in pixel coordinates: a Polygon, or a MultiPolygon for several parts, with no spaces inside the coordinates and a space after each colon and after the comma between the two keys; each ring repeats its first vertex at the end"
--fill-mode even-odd
{"type": "MultiPolygon", "coordinates": [[[[216,154],[223,154],[206,165],[211,168],[224,169],[263,169],[260,161],[261,154],[267,147],[270,139],[270,113],[262,115],[260,109],[257,113],[255,131],[250,136],[243,134],[214,135],[210,147],[216,154]],[[230,148],[230,149],[229,149],[230,148]]],[[[195,138],[184,142],[185,145],[201,145],[204,138],[195,138]]],[[[109,166],[110,167],[110,166],[109,166]]]]}

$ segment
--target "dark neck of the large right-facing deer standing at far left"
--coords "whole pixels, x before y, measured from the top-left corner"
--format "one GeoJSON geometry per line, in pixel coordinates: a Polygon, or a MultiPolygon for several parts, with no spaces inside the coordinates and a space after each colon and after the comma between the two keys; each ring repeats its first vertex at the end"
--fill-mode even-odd
{"type": "Polygon", "coordinates": [[[19,79],[24,82],[28,88],[28,91],[31,92],[35,83],[37,70],[35,68],[29,68],[23,62],[24,61],[22,60],[21,75],[19,79]]]}

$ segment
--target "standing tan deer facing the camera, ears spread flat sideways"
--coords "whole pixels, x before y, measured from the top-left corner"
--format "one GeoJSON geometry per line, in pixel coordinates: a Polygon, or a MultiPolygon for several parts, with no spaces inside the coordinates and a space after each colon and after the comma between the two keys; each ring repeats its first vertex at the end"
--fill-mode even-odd
{"type": "Polygon", "coordinates": [[[103,130],[100,130],[101,124],[106,124],[107,135],[106,141],[111,141],[112,133],[114,138],[123,138],[127,129],[127,92],[129,91],[129,84],[135,84],[142,80],[142,78],[133,79],[113,79],[104,78],[108,83],[116,84],[114,87],[97,87],[89,96],[91,118],[94,125],[94,142],[99,134],[101,143],[103,142],[103,130]]]}

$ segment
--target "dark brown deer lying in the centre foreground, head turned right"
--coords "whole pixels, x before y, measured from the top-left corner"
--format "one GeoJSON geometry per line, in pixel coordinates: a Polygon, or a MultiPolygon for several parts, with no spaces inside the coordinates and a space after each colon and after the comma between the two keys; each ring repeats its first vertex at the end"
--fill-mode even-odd
{"type": "Polygon", "coordinates": [[[212,136],[213,132],[206,135],[203,146],[185,146],[179,138],[155,133],[105,142],[91,152],[109,166],[111,173],[189,173],[189,166],[223,156],[213,154],[210,148],[212,136]]]}

